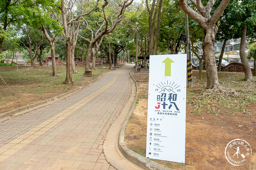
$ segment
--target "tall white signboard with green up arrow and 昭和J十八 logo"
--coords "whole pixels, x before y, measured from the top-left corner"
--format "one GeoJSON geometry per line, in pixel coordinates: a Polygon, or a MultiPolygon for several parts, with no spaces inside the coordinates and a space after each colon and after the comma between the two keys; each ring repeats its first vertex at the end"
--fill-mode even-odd
{"type": "Polygon", "coordinates": [[[185,163],[187,55],[150,55],[146,157],[185,163]]]}

